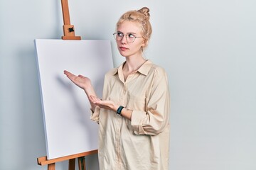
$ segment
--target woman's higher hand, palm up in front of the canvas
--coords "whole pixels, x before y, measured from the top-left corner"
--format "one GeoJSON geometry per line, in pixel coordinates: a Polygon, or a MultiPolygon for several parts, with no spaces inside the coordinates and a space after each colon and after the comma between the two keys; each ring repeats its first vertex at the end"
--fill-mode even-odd
{"type": "Polygon", "coordinates": [[[82,75],[76,76],[75,74],[72,74],[67,70],[64,70],[64,74],[68,77],[68,79],[70,79],[75,85],[79,86],[81,89],[84,89],[86,91],[87,89],[92,88],[92,83],[88,77],[84,77],[82,75]]]}

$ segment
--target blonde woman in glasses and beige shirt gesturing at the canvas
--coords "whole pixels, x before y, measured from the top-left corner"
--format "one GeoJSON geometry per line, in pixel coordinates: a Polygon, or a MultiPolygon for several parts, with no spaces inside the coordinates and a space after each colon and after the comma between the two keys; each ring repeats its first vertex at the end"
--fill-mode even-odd
{"type": "Polygon", "coordinates": [[[164,69],[142,56],[150,36],[149,8],[121,16],[114,38],[125,62],[105,75],[102,100],[89,78],[64,71],[84,89],[99,123],[100,169],[168,169],[169,86],[164,69]]]}

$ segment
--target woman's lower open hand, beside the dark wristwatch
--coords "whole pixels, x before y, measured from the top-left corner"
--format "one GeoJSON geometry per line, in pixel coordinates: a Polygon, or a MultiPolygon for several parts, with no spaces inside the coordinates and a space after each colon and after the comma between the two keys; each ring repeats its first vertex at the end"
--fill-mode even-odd
{"type": "Polygon", "coordinates": [[[97,96],[90,96],[89,100],[100,108],[117,111],[118,105],[113,101],[102,101],[100,98],[97,98],[97,96]]]}

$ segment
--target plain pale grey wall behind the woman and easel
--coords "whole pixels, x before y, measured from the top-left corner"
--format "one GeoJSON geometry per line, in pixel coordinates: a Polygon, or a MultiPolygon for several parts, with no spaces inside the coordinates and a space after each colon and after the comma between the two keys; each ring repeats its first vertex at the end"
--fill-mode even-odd
{"type": "MultiPolygon", "coordinates": [[[[129,9],[151,8],[145,55],[169,74],[173,170],[255,170],[256,1],[69,1],[82,39],[112,39],[129,9]]],[[[60,0],[0,1],[0,169],[47,169],[33,40],[60,38],[60,0]]],[[[97,157],[87,158],[97,169],[97,157]]],[[[67,162],[58,164],[67,169],[67,162]]]]}

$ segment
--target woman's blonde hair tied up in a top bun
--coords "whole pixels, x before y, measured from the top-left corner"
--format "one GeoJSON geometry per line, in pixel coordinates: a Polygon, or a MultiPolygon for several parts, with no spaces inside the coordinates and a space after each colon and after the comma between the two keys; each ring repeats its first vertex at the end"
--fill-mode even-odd
{"type": "Polygon", "coordinates": [[[142,28],[142,37],[144,38],[145,43],[147,45],[152,33],[149,17],[149,8],[147,7],[143,7],[139,10],[127,11],[119,18],[119,21],[117,22],[117,28],[124,21],[132,21],[139,23],[142,28]]]}

